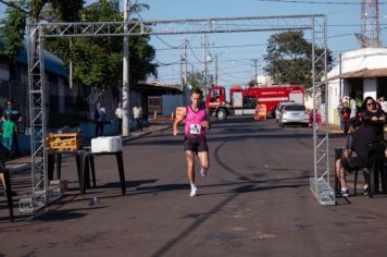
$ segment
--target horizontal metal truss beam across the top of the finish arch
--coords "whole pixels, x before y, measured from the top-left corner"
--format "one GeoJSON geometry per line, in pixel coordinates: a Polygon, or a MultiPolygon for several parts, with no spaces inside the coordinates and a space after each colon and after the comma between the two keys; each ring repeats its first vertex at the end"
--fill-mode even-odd
{"type": "Polygon", "coordinates": [[[324,15],[289,15],[262,17],[217,17],[176,21],[130,21],[125,33],[125,22],[41,23],[40,37],[86,36],[141,36],[202,33],[244,33],[313,29],[324,15]]]}

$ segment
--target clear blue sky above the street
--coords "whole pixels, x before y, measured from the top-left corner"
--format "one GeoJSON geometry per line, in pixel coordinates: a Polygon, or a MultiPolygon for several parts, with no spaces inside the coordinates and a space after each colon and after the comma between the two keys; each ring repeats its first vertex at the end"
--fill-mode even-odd
{"type": "MultiPolygon", "coordinates": [[[[328,22],[328,48],[334,57],[337,59],[340,52],[359,48],[354,33],[360,33],[361,29],[361,0],[290,0],[290,2],[288,0],[139,0],[138,2],[150,5],[150,10],[140,13],[145,20],[325,14],[328,22]]],[[[4,9],[1,3],[0,9],[4,9]]],[[[382,35],[387,42],[387,17],[385,17],[387,0],[380,1],[379,12],[382,35]]],[[[219,84],[245,85],[253,77],[254,68],[251,59],[255,58],[261,60],[259,74],[262,74],[262,65],[264,65],[262,58],[270,35],[269,33],[208,34],[209,52],[212,56],[219,54],[219,84]]],[[[183,49],[172,47],[182,46],[184,38],[188,39],[191,48],[188,50],[189,70],[202,71],[201,35],[151,36],[151,44],[157,49],[157,61],[160,64],[177,62],[183,49]]],[[[210,63],[209,70],[214,74],[214,62],[210,63]]],[[[159,79],[179,83],[179,64],[161,65],[159,79]]]]}

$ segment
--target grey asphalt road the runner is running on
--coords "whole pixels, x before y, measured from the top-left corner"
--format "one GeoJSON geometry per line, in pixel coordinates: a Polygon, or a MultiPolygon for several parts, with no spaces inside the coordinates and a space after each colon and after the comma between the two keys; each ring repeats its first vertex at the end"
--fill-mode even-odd
{"type": "MultiPolygon", "coordinates": [[[[154,133],[124,147],[125,196],[114,159],[98,157],[97,188],[78,195],[68,158],[62,176],[71,191],[33,220],[8,222],[2,197],[0,256],[387,255],[386,196],[321,206],[310,192],[310,128],[279,128],[273,120],[251,118],[214,123],[211,168],[207,178],[197,172],[194,198],[183,137],[171,134],[154,133]],[[92,197],[99,204],[90,205],[92,197]]],[[[332,149],[344,140],[332,138],[332,149]]],[[[27,180],[20,175],[13,183],[26,191],[27,180]]]]}

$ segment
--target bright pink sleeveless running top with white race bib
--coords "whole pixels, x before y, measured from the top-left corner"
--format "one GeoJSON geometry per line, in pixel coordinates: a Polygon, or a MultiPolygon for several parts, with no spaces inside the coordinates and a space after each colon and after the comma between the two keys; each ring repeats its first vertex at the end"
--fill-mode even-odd
{"type": "Polygon", "coordinates": [[[205,109],[199,108],[196,112],[192,110],[191,106],[187,106],[186,110],[185,135],[188,137],[205,136],[205,127],[201,125],[201,123],[207,120],[205,109]]]}

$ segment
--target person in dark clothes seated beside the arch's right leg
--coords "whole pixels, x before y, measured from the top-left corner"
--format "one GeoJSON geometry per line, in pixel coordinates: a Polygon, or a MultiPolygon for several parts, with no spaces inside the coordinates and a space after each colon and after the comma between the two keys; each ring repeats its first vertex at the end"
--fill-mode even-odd
{"type": "MultiPolygon", "coordinates": [[[[339,178],[341,188],[337,192],[338,196],[349,196],[347,187],[346,172],[353,172],[367,168],[366,163],[366,146],[369,143],[376,140],[375,131],[369,126],[364,126],[361,121],[355,118],[349,121],[349,131],[351,132],[347,137],[346,149],[344,157],[336,161],[336,174],[339,178]],[[352,156],[352,151],[357,152],[357,156],[352,156]]],[[[364,170],[365,171],[365,170],[364,170]]],[[[369,175],[363,172],[364,175],[364,192],[367,194],[369,175]]]]}

